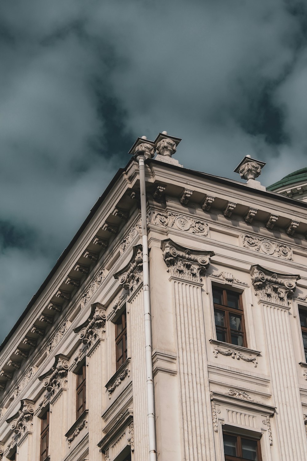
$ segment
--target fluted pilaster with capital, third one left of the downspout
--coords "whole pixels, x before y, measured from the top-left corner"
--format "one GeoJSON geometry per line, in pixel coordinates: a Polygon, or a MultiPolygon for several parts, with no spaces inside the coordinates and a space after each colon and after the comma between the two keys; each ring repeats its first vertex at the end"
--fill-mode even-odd
{"type": "Polygon", "coordinates": [[[50,392],[49,454],[52,460],[61,460],[65,454],[68,368],[67,357],[56,355],[52,368],[39,377],[43,381],[43,386],[50,392]]]}

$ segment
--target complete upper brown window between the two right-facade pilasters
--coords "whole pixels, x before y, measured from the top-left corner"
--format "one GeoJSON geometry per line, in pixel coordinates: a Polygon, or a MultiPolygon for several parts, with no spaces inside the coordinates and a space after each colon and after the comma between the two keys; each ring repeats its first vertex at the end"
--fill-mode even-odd
{"type": "Polygon", "coordinates": [[[212,294],[218,341],[247,347],[241,294],[217,286],[212,287],[212,294]]]}

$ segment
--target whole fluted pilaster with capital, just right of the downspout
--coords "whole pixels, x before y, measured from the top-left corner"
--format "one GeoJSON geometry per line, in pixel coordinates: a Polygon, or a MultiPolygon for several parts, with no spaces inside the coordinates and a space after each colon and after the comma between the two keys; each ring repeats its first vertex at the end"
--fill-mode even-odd
{"type": "Polygon", "coordinates": [[[187,250],[171,240],[161,248],[174,286],[183,459],[214,461],[201,283],[213,253],[187,250]]]}

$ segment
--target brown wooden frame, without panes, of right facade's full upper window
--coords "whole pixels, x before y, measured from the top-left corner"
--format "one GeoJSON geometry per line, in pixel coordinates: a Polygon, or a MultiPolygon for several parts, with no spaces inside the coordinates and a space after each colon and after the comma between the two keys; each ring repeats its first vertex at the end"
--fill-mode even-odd
{"type": "MultiPolygon", "coordinates": [[[[228,344],[232,344],[232,337],[231,337],[232,331],[237,332],[237,330],[231,330],[231,328],[230,328],[229,313],[233,313],[235,315],[238,315],[238,316],[241,317],[241,328],[242,329],[241,329],[240,333],[242,333],[242,334],[240,336],[242,337],[242,344],[243,344],[241,347],[246,347],[247,348],[242,293],[240,293],[239,291],[230,290],[229,288],[225,288],[222,285],[212,285],[212,299],[214,299],[213,298],[214,289],[222,291],[222,302],[223,302],[223,304],[217,304],[217,303],[213,302],[214,311],[215,310],[223,311],[225,313],[225,322],[226,322],[226,325],[224,327],[221,327],[221,326],[215,325],[215,320],[214,320],[216,335],[217,335],[218,330],[224,331],[225,332],[225,337],[226,337],[225,342],[228,343],[228,344]],[[232,293],[237,293],[239,295],[239,298],[238,298],[238,306],[239,306],[239,308],[238,309],[234,309],[233,307],[227,306],[227,291],[231,291],[232,293]]],[[[237,344],[233,344],[233,345],[237,346],[237,344]]]]}

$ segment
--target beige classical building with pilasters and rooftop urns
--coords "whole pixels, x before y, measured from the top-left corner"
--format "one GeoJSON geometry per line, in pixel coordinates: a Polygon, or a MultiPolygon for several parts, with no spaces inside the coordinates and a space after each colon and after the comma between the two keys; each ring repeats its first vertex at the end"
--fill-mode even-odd
{"type": "Polygon", "coordinates": [[[307,461],[307,203],[179,142],[137,140],[2,343],[3,460],[307,461]]]}

